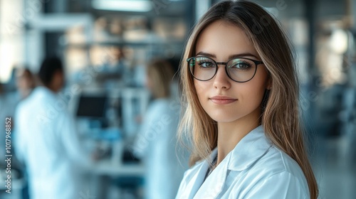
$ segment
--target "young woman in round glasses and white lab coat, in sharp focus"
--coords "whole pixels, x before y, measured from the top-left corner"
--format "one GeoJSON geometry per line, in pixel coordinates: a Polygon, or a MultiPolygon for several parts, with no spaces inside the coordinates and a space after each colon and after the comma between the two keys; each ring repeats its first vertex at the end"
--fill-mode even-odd
{"type": "Polygon", "coordinates": [[[181,68],[191,164],[176,198],[317,198],[285,33],[261,6],[223,1],[192,31],[181,68]]]}

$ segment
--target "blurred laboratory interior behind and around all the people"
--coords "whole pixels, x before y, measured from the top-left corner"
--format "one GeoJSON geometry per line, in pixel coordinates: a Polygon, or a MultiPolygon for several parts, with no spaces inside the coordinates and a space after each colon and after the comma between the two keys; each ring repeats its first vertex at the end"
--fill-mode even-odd
{"type": "MultiPolygon", "coordinates": [[[[151,101],[146,64],[164,58],[177,71],[189,31],[216,2],[0,0],[1,121],[14,117],[26,97],[23,70],[36,74],[44,58],[56,55],[66,71],[59,95],[83,148],[95,154],[80,198],[145,198],[145,167],[130,144],[151,101]]],[[[320,198],[356,198],[356,1],[256,2],[281,21],[295,47],[301,118],[320,198]]],[[[28,197],[21,163],[11,166],[11,195],[4,164],[0,198],[28,197]]]]}

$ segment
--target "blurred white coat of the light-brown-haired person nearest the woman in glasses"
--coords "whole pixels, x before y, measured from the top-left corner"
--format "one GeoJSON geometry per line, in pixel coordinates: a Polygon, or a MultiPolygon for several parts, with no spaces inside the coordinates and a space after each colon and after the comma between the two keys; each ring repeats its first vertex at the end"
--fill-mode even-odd
{"type": "Polygon", "coordinates": [[[187,153],[176,147],[179,113],[179,99],[155,99],[137,134],[134,154],[146,166],[147,199],[174,198],[188,168],[187,153]]]}

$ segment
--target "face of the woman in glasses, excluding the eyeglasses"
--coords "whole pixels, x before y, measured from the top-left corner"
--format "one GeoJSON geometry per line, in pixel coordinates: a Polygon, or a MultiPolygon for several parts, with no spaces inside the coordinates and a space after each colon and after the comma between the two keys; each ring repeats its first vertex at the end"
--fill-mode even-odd
{"type": "MultiPolygon", "coordinates": [[[[261,61],[244,31],[229,23],[216,21],[201,32],[194,56],[204,55],[216,62],[243,57],[261,61]]],[[[219,65],[216,75],[208,81],[194,79],[194,87],[201,106],[216,122],[256,122],[261,115],[263,93],[269,88],[268,72],[263,64],[248,82],[234,82],[219,65]],[[252,122],[252,121],[251,121],[252,122]]]]}

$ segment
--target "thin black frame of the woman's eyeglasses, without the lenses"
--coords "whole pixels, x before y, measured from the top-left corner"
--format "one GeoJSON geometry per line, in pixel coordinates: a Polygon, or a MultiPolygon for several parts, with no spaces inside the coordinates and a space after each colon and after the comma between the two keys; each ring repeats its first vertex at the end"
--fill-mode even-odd
{"type": "MultiPolygon", "coordinates": [[[[208,58],[208,57],[197,56],[197,57],[187,58],[187,63],[188,63],[188,67],[189,67],[189,72],[190,72],[190,74],[192,74],[192,76],[193,76],[196,80],[199,80],[197,77],[194,76],[192,70],[190,70],[190,67],[193,67],[193,66],[191,66],[191,65],[189,64],[189,61],[192,60],[192,59],[195,59],[195,58],[208,58]]],[[[236,60],[236,59],[251,60],[253,63],[255,63],[255,65],[256,65],[255,72],[253,72],[253,75],[252,75],[252,77],[251,77],[249,80],[252,80],[253,77],[255,77],[256,72],[257,72],[257,66],[260,65],[260,64],[263,64],[262,61],[253,60],[253,59],[249,59],[249,58],[232,58],[231,60],[236,60]]],[[[249,80],[246,80],[246,81],[240,82],[240,81],[236,81],[236,80],[234,80],[233,78],[230,77],[229,72],[227,72],[227,63],[229,63],[231,60],[228,60],[228,61],[225,62],[225,63],[224,63],[224,62],[216,62],[214,59],[211,59],[211,58],[209,58],[209,60],[214,61],[215,65],[216,65],[215,73],[214,73],[214,75],[213,75],[210,79],[208,79],[208,80],[199,80],[199,81],[204,81],[204,82],[205,82],[205,81],[209,81],[209,80],[211,80],[212,78],[214,78],[215,75],[216,75],[216,72],[218,72],[218,68],[219,68],[218,65],[225,65],[225,72],[226,72],[226,75],[227,75],[231,80],[233,80],[234,82],[244,83],[244,82],[248,82],[248,81],[249,81],[249,80]]]]}

